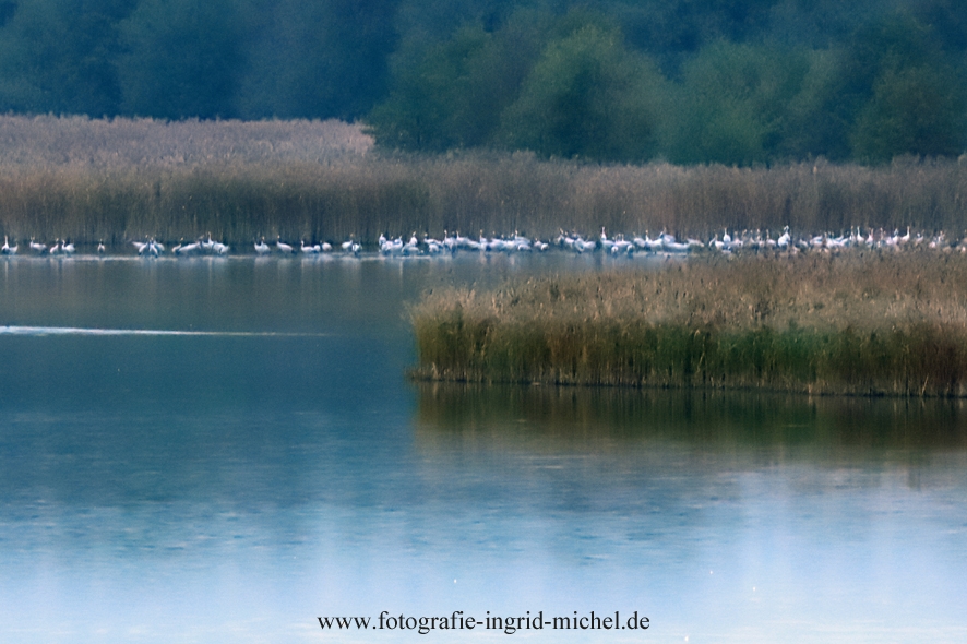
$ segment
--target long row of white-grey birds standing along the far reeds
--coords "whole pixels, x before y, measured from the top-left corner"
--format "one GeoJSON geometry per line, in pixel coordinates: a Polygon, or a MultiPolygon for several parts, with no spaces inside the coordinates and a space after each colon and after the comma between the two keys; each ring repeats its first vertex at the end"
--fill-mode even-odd
{"type": "MultiPolygon", "coordinates": [[[[774,250],[781,252],[799,252],[799,251],[836,251],[848,248],[886,248],[886,249],[907,249],[907,248],[930,248],[939,250],[958,250],[967,252],[967,237],[956,240],[948,239],[944,232],[924,236],[921,232],[912,235],[907,228],[905,232],[894,230],[887,232],[882,228],[879,230],[869,229],[863,231],[860,228],[853,228],[849,234],[833,235],[821,234],[810,236],[793,237],[787,226],[781,235],[773,237],[768,231],[743,230],[742,232],[730,234],[728,229],[723,229],[720,235],[715,235],[708,241],[695,238],[679,239],[674,235],[662,231],[656,237],[649,234],[633,235],[616,235],[609,237],[607,231],[601,228],[598,237],[585,238],[575,232],[564,232],[554,239],[544,241],[536,238],[527,238],[517,234],[505,237],[463,237],[459,234],[451,235],[444,231],[441,239],[435,239],[429,235],[425,235],[422,239],[417,238],[416,234],[411,235],[408,240],[403,237],[393,239],[381,235],[379,239],[379,253],[389,257],[417,257],[417,255],[442,255],[454,254],[458,251],[475,252],[545,252],[551,248],[558,248],[575,253],[590,253],[600,251],[611,255],[633,255],[636,253],[690,253],[693,251],[708,250],[721,253],[733,253],[740,251],[763,251],[774,250]]],[[[164,254],[174,257],[192,257],[192,255],[227,255],[231,248],[212,239],[212,235],[199,237],[194,241],[186,242],[183,239],[177,245],[167,249],[164,243],[148,237],[144,240],[131,241],[132,252],[136,251],[139,255],[147,258],[157,258],[164,254]]],[[[115,250],[115,249],[112,249],[115,250]]],[[[0,252],[4,255],[15,255],[20,251],[20,242],[10,243],[8,236],[3,237],[3,247],[0,252]]],[[[300,240],[298,243],[288,243],[277,237],[274,243],[266,243],[265,238],[256,240],[252,245],[252,250],[242,249],[241,252],[251,253],[254,251],[258,255],[320,255],[325,253],[343,253],[348,255],[359,255],[362,246],[350,238],[339,245],[330,242],[306,243],[300,240]]],[[[33,237],[27,242],[28,252],[33,255],[51,255],[63,257],[72,255],[76,252],[73,243],[64,239],[56,239],[53,243],[43,243],[36,241],[33,237]]],[[[106,254],[108,252],[104,241],[97,245],[97,253],[106,254]]],[[[117,252],[117,251],[115,251],[117,252]]]]}

